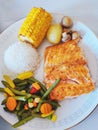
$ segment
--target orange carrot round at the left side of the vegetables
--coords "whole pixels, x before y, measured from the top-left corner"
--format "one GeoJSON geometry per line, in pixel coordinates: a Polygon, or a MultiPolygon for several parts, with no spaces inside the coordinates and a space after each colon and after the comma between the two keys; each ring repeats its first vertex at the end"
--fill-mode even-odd
{"type": "Polygon", "coordinates": [[[17,101],[14,97],[8,97],[7,102],[6,102],[6,107],[8,110],[13,111],[15,110],[17,106],[17,101]]]}

